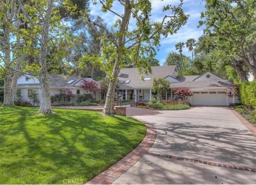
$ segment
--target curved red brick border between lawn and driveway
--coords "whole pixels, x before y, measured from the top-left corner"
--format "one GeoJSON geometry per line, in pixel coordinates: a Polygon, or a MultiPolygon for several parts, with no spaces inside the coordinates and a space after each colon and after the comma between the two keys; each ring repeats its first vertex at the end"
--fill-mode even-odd
{"type": "Polygon", "coordinates": [[[111,184],[130,169],[136,162],[138,162],[142,156],[147,154],[148,150],[156,140],[156,128],[144,120],[140,120],[138,118],[136,118],[136,120],[144,123],[147,127],[146,136],[142,142],[124,158],[109,167],[106,171],[103,171],[96,177],[92,178],[86,184],[111,184]]]}

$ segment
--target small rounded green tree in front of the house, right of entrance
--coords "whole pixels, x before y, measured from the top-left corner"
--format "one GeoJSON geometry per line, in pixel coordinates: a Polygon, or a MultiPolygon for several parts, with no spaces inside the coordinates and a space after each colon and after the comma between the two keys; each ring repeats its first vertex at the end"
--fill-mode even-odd
{"type": "Polygon", "coordinates": [[[166,93],[170,89],[170,81],[163,79],[163,78],[154,78],[153,85],[152,85],[152,93],[153,94],[160,94],[160,100],[162,100],[162,95],[166,93]]]}

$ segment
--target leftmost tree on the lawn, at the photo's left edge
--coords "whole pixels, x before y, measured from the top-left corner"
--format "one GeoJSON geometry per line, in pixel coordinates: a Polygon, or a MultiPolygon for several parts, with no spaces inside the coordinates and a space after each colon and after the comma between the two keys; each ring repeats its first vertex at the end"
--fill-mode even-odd
{"type": "Polygon", "coordinates": [[[0,3],[0,67],[4,76],[3,105],[14,105],[17,79],[22,61],[20,6],[16,0],[0,3]],[[13,39],[14,41],[11,41],[13,39]]]}

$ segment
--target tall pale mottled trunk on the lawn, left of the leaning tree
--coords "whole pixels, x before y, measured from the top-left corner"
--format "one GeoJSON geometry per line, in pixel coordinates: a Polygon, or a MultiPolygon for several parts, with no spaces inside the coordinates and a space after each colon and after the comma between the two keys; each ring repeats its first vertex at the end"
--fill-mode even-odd
{"type": "Polygon", "coordinates": [[[48,0],[47,12],[44,18],[41,49],[39,54],[39,79],[41,85],[41,101],[39,113],[53,113],[51,107],[51,96],[47,76],[47,45],[49,37],[50,18],[52,16],[53,0],[48,0]]]}

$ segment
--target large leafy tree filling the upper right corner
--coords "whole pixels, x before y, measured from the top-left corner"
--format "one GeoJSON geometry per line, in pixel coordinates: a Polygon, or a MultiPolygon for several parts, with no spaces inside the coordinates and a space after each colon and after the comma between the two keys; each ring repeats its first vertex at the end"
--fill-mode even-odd
{"type": "MultiPolygon", "coordinates": [[[[242,66],[248,67],[256,77],[256,0],[206,0],[206,11],[201,13],[204,20],[199,26],[206,25],[206,35],[214,36],[217,51],[232,55],[233,62],[242,64],[236,69],[242,74],[242,66]],[[227,46],[229,47],[223,47],[227,46]]],[[[244,74],[242,80],[247,80],[244,74]]]]}

